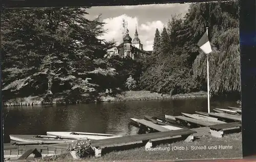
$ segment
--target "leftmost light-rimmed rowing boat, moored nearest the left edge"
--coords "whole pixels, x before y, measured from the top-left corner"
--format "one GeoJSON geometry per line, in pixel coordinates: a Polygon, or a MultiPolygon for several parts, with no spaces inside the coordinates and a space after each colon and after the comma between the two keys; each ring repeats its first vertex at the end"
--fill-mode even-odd
{"type": "Polygon", "coordinates": [[[65,143],[74,138],[60,138],[56,136],[45,136],[45,135],[27,135],[27,134],[10,134],[10,140],[14,142],[37,142],[37,143],[65,143]]]}

